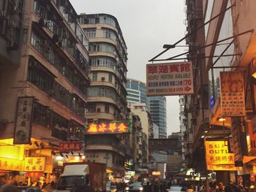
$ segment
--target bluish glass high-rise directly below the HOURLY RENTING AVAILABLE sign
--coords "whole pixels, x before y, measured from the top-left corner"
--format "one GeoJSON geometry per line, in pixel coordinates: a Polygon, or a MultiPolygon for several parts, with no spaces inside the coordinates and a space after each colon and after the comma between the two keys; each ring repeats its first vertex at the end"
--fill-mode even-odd
{"type": "Polygon", "coordinates": [[[159,126],[159,138],[167,138],[166,98],[164,96],[151,96],[149,101],[152,121],[159,126]]]}

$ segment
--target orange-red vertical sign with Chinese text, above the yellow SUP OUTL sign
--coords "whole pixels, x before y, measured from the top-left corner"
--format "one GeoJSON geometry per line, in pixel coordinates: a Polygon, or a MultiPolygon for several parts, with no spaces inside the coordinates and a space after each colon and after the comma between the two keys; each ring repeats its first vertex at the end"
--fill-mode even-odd
{"type": "Polygon", "coordinates": [[[220,100],[223,117],[244,116],[243,72],[220,72],[220,100]]]}

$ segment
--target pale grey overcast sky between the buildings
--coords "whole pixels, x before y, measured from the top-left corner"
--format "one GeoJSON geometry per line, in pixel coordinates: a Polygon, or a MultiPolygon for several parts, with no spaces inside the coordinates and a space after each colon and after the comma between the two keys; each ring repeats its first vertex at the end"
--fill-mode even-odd
{"type": "MultiPolygon", "coordinates": [[[[107,13],[118,20],[127,44],[127,77],[146,82],[146,64],[185,35],[184,0],[69,0],[78,14],[107,13]]],[[[179,45],[184,45],[181,43],[179,45]]],[[[184,53],[168,50],[161,58],[184,53]]],[[[178,96],[167,96],[167,135],[179,131],[178,96]]]]}

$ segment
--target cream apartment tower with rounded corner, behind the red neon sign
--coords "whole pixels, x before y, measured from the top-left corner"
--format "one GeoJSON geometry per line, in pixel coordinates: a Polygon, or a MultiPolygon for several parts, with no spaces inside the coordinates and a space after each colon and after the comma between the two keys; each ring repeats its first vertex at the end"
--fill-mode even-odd
{"type": "MultiPolygon", "coordinates": [[[[127,45],[118,20],[108,14],[80,15],[89,38],[91,85],[89,122],[127,120],[127,45]]],[[[129,161],[129,134],[86,135],[86,161],[106,163],[113,176],[124,173],[129,161]]]]}

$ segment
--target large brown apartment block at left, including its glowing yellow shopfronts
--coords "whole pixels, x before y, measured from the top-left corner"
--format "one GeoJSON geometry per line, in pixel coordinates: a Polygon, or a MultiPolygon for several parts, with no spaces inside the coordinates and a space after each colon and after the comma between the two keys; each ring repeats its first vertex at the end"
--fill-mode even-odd
{"type": "Polygon", "coordinates": [[[59,142],[84,142],[89,42],[69,1],[1,1],[0,10],[0,169],[50,181],[57,157],[82,161],[83,149],[60,153],[59,142]]]}

